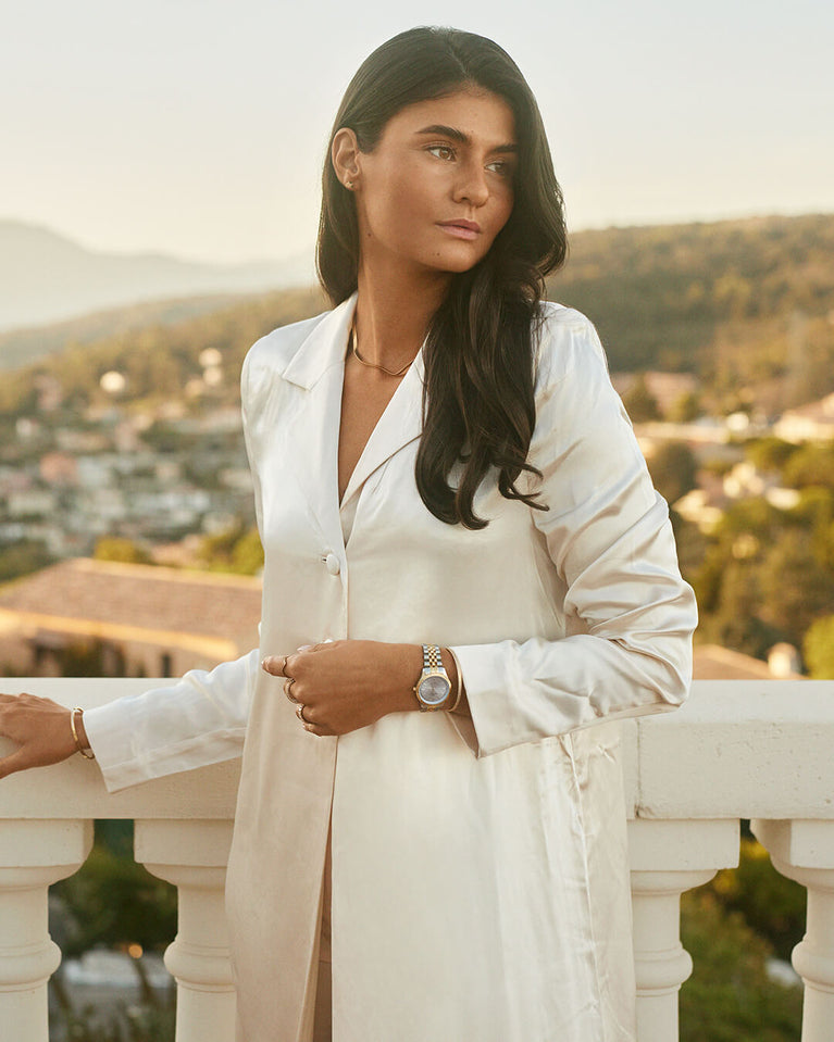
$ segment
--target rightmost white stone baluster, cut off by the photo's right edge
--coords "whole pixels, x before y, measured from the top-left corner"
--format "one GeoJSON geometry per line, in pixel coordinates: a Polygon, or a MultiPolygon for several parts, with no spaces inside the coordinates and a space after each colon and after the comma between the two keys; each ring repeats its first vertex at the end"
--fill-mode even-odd
{"type": "Polygon", "coordinates": [[[834,821],[755,818],[750,828],[776,871],[808,891],[805,937],[791,962],[805,982],[802,1042],[830,1042],[834,1031],[834,821]]]}

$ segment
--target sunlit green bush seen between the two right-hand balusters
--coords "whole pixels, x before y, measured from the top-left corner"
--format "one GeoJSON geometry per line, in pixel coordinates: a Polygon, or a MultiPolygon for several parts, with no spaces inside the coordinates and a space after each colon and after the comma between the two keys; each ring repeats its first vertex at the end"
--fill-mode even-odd
{"type": "Polygon", "coordinates": [[[706,888],[681,897],[681,940],[693,957],[680,995],[681,1042],[795,1042],[801,988],[767,975],[770,944],[739,912],[725,912],[706,888]]]}

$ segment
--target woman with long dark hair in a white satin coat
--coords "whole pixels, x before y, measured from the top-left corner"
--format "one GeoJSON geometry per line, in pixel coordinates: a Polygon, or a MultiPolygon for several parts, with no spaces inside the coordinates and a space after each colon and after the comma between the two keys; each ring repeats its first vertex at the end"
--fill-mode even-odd
{"type": "Polygon", "coordinates": [[[634,1040],[614,721],[686,698],[696,612],[594,327],[540,300],[564,254],[511,59],[383,45],[325,164],[334,309],[244,366],[260,652],[72,721],[3,699],[3,773],[70,723],[111,789],[242,743],[246,1042],[634,1040]]]}

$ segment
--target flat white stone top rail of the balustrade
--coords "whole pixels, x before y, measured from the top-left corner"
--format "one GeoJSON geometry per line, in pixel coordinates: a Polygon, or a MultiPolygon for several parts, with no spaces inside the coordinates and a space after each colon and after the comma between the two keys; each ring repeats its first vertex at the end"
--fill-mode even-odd
{"type": "MultiPolygon", "coordinates": [[[[9,679],[90,708],[146,679],[9,679]]],[[[671,713],[622,721],[628,813],[640,818],[834,818],[834,681],[702,680],[671,713]]],[[[0,752],[12,748],[0,739],[0,752]]],[[[497,754],[500,755],[500,754],[497,754]]],[[[239,761],[109,794],[74,756],[0,781],[0,818],[231,818],[239,761]]]]}

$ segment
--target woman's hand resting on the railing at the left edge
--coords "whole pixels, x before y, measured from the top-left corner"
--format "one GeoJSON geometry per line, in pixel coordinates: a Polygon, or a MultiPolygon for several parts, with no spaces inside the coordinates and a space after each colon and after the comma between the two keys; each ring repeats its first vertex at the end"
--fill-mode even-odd
{"type": "MultiPolygon", "coordinates": [[[[86,745],[84,724],[76,719],[76,725],[86,745]]],[[[70,710],[35,694],[0,694],[0,735],[20,746],[0,758],[0,778],[27,767],[60,763],[77,752],[70,710]]]]}

